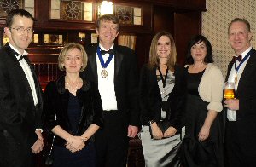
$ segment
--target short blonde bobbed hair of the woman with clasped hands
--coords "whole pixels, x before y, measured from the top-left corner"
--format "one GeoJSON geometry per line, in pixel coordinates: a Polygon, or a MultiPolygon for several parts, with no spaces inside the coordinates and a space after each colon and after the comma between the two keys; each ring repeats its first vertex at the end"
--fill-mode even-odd
{"type": "Polygon", "coordinates": [[[80,72],[83,72],[85,67],[87,66],[88,56],[84,50],[84,47],[79,43],[67,43],[64,46],[64,48],[61,49],[61,53],[59,54],[59,57],[58,57],[59,69],[61,71],[65,71],[65,67],[62,66],[62,64],[64,63],[65,56],[72,49],[79,49],[81,51],[83,66],[81,67],[80,72]]]}

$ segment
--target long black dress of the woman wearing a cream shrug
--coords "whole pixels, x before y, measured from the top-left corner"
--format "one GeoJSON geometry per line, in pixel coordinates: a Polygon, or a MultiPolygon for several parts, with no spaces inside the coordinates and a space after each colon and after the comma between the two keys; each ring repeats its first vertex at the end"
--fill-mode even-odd
{"type": "Polygon", "coordinates": [[[198,92],[201,77],[205,70],[199,73],[189,73],[187,70],[187,97],[184,121],[186,132],[183,139],[183,166],[222,167],[222,133],[218,116],[212,123],[208,139],[206,141],[198,140],[198,134],[208,112],[208,102],[203,101],[198,92]]]}

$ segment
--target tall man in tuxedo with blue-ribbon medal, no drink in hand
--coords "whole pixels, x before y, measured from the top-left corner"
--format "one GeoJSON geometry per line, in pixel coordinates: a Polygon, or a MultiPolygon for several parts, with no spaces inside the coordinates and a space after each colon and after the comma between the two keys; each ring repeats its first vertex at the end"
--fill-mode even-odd
{"type": "Polygon", "coordinates": [[[104,125],[96,132],[97,166],[125,167],[129,137],[137,135],[139,126],[137,58],[133,50],[114,44],[117,17],[103,15],[96,26],[99,44],[88,51],[82,77],[98,85],[102,98],[104,125]]]}

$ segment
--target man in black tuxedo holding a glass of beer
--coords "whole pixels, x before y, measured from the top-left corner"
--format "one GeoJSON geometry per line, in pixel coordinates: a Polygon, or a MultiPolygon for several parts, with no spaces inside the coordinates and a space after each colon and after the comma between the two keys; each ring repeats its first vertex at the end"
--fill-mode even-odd
{"type": "Polygon", "coordinates": [[[236,96],[235,99],[224,101],[227,108],[225,164],[227,167],[255,167],[256,51],[250,43],[252,33],[247,20],[232,20],[229,38],[236,56],[229,64],[226,80],[235,83],[236,96]]]}

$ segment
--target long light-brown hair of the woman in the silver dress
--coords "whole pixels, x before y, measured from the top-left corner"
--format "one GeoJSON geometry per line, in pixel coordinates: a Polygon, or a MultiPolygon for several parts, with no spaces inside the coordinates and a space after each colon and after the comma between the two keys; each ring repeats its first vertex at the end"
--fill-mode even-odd
{"type": "Polygon", "coordinates": [[[150,68],[159,66],[160,60],[157,55],[157,42],[160,39],[160,37],[162,37],[162,36],[166,36],[170,39],[171,52],[170,52],[170,55],[167,60],[167,66],[168,66],[168,69],[170,69],[171,71],[174,71],[174,66],[176,64],[176,58],[177,58],[176,45],[175,45],[174,39],[172,37],[172,34],[170,32],[166,32],[166,31],[161,31],[154,35],[151,45],[150,45],[148,65],[150,68]]]}

